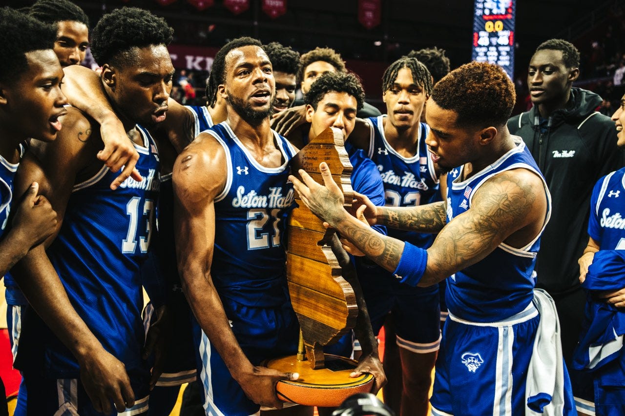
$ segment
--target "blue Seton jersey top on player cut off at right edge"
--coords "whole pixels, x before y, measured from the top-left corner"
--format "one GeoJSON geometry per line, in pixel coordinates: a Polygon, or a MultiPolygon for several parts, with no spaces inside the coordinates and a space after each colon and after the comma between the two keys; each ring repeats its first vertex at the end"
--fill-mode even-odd
{"type": "Polygon", "coordinates": [[[599,179],[592,189],[588,234],[600,250],[625,250],[625,167],[599,179]]]}

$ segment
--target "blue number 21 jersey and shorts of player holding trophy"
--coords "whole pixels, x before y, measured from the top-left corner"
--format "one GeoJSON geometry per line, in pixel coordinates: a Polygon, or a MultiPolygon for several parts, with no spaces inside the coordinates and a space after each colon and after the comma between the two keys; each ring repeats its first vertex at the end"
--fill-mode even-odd
{"type": "MultiPolygon", "coordinates": [[[[207,131],[226,152],[226,186],[215,198],[212,282],[232,332],[252,364],[295,354],[299,324],[286,283],[284,232],[294,207],[287,182],[295,151],[273,132],[284,163],[256,162],[226,122],[207,131]]],[[[207,414],[251,415],[259,406],[247,399],[204,332],[199,335],[200,377],[207,414]]]]}

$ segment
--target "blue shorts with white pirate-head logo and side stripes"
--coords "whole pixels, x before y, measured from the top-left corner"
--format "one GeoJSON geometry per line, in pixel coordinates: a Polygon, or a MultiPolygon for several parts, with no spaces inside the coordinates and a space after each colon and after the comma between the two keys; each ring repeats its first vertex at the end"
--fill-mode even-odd
{"type": "Polygon", "coordinates": [[[436,360],[432,415],[524,415],[539,321],[532,303],[492,324],[472,324],[450,313],[436,360]]]}

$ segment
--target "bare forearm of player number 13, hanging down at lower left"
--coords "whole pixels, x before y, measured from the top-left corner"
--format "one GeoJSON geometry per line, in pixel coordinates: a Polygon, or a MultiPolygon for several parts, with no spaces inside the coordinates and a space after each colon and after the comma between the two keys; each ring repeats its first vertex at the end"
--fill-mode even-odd
{"type": "Polygon", "coordinates": [[[74,310],[42,245],[30,250],[11,274],[29,304],[79,362],[102,348],[74,310]]]}

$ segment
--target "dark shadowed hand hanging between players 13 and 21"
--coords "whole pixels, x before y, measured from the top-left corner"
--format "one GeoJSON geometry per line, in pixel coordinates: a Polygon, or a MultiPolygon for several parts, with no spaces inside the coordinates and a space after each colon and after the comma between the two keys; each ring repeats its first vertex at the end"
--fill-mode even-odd
{"type": "Polygon", "coordinates": [[[163,366],[167,359],[167,352],[174,332],[174,322],[166,305],[154,309],[148,334],[146,334],[146,346],[143,349],[143,359],[154,354],[154,365],[150,378],[150,390],[154,389],[156,382],[163,373],[163,366]]]}

